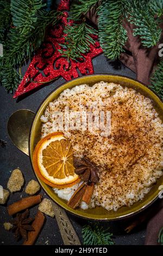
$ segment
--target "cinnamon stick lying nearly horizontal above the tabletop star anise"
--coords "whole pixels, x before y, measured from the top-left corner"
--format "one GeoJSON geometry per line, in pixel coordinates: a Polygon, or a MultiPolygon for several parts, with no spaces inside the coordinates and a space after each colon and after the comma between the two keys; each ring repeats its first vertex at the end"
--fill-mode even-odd
{"type": "Polygon", "coordinates": [[[9,215],[14,215],[17,212],[20,212],[22,210],[25,210],[29,208],[30,206],[33,206],[35,204],[41,203],[42,196],[38,194],[37,196],[32,196],[32,197],[25,197],[21,199],[20,201],[17,201],[14,204],[10,204],[8,206],[8,214],[9,215]]]}

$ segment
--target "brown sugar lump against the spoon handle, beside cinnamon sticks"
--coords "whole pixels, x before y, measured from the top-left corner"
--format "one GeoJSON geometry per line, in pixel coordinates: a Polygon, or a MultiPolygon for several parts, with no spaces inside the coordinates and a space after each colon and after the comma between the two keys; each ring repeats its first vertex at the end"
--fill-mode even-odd
{"type": "Polygon", "coordinates": [[[51,216],[52,218],[55,216],[53,203],[47,198],[44,198],[39,204],[39,211],[43,212],[43,214],[51,216]]]}

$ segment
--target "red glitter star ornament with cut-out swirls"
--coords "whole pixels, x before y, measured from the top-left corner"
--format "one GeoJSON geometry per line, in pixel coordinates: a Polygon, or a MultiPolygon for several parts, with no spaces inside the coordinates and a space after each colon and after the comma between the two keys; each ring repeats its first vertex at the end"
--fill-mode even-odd
{"type": "MultiPolygon", "coordinates": [[[[60,17],[60,24],[49,27],[47,36],[42,44],[42,47],[36,52],[32,62],[30,63],[26,74],[18,86],[14,98],[24,93],[40,87],[42,84],[51,82],[60,76],[66,81],[79,77],[78,71],[82,75],[93,74],[92,58],[101,54],[102,48],[99,42],[95,45],[90,45],[90,51],[82,54],[82,58],[78,62],[62,57],[58,51],[62,49],[60,44],[65,42],[64,27],[71,25],[73,21],[67,22],[69,0],[62,0],[59,4],[58,10],[62,11],[63,15],[60,17]]],[[[97,40],[97,38],[94,38],[97,40]]]]}

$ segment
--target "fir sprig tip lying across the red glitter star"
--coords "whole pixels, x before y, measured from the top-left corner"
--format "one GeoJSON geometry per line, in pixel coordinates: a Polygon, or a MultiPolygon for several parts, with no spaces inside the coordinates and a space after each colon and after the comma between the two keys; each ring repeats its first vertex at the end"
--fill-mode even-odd
{"type": "Polygon", "coordinates": [[[67,57],[68,60],[82,58],[82,53],[90,50],[90,44],[95,44],[95,40],[91,35],[97,34],[96,30],[89,26],[85,20],[72,26],[67,25],[64,33],[66,34],[66,44],[61,45],[64,46],[64,49],[59,52],[62,53],[63,57],[67,57]]]}

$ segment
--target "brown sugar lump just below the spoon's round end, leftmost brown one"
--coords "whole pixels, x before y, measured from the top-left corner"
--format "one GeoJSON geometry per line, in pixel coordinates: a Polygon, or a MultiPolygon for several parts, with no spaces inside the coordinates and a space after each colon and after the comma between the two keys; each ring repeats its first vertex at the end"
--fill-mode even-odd
{"type": "Polygon", "coordinates": [[[12,171],[11,176],[8,181],[8,189],[10,192],[20,191],[24,184],[23,174],[20,169],[15,169],[12,171]]]}

